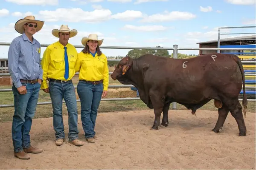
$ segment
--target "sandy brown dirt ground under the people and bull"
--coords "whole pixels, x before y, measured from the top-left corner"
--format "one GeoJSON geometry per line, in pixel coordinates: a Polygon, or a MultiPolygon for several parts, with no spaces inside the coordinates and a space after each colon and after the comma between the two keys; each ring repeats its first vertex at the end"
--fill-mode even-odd
{"type": "MultiPolygon", "coordinates": [[[[162,118],[161,118],[162,119],[162,118]]],[[[1,169],[255,169],[255,113],[247,113],[247,136],[239,137],[229,113],[221,133],[212,128],[216,111],[169,111],[169,126],[150,130],[153,111],[101,113],[96,120],[99,139],[84,146],[55,145],[52,118],[34,119],[31,141],[44,151],[20,160],[13,155],[12,122],[0,123],[1,169]]],[[[64,116],[65,134],[68,133],[64,116]]]]}

